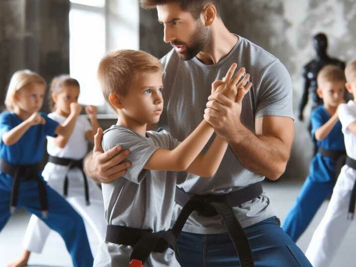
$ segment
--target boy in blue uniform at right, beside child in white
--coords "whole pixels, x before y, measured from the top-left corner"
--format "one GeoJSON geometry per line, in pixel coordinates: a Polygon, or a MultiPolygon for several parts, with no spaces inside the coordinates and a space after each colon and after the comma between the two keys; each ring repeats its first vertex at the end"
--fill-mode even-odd
{"type": "Polygon", "coordinates": [[[339,67],[328,65],[320,70],[317,83],[318,95],[324,101],[311,115],[312,135],[317,141],[318,153],[312,159],[309,176],[282,226],[294,242],[307,228],[323,201],[333,192],[335,177],[343,166],[341,162],[346,153],[336,112],[339,104],[344,102],[344,72],[339,67]]]}

